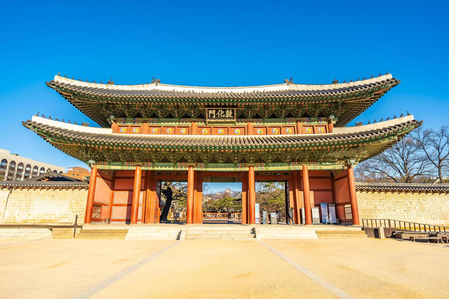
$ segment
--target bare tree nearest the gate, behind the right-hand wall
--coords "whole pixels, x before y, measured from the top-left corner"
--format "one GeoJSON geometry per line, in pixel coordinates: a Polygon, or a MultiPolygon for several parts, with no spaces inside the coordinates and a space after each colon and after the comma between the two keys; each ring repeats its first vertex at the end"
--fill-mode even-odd
{"type": "Polygon", "coordinates": [[[431,173],[431,163],[409,136],[356,167],[362,182],[423,182],[431,173]]]}

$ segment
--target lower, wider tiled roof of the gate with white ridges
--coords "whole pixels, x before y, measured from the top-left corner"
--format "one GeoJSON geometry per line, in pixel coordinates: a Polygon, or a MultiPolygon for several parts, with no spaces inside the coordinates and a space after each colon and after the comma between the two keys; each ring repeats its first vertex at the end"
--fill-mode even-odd
{"type": "MultiPolygon", "coordinates": [[[[388,126],[376,130],[367,130],[355,133],[345,134],[297,134],[297,135],[244,135],[244,136],[220,136],[220,135],[132,135],[132,134],[96,134],[86,133],[73,130],[48,126],[36,121],[22,121],[23,126],[27,128],[35,127],[38,130],[46,131],[53,135],[59,135],[71,139],[79,139],[81,141],[99,142],[99,143],[121,143],[136,145],[153,145],[153,146],[301,146],[308,143],[330,143],[356,141],[366,138],[373,138],[390,134],[401,130],[405,127],[415,125],[420,126],[422,121],[406,121],[395,126],[388,126]]],[[[355,127],[357,128],[357,127],[355,127]]]]}

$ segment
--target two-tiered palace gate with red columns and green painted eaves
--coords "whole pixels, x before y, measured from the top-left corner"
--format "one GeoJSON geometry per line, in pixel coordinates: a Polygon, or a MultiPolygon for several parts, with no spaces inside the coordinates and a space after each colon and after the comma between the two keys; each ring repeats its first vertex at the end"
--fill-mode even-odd
{"type": "Polygon", "coordinates": [[[205,221],[202,182],[242,182],[240,222],[253,224],[255,182],[280,181],[295,223],[312,224],[311,208],[326,203],[358,225],[354,165],[422,123],[408,115],[346,127],[399,84],[391,74],[325,85],[108,83],[59,75],[47,82],[100,128],[39,116],[23,122],[92,168],[85,223],[158,223],[161,182],[172,180],[188,183],[188,224],[205,221]]]}

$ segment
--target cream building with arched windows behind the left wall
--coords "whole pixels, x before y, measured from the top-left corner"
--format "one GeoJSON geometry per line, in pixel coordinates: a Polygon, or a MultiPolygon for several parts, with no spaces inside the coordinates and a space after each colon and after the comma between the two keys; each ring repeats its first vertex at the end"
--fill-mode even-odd
{"type": "Polygon", "coordinates": [[[0,178],[9,181],[24,181],[37,177],[47,171],[63,173],[61,166],[31,160],[18,154],[11,154],[0,148],[0,178]]]}

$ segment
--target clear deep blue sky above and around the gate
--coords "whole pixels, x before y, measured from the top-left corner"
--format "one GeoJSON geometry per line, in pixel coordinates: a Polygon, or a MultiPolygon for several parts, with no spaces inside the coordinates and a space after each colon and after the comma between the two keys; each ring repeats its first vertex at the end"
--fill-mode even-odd
{"type": "Polygon", "coordinates": [[[89,122],[45,85],[58,72],[116,84],[155,76],[168,84],[248,86],[388,71],[401,84],[355,121],[409,110],[427,127],[447,123],[447,1],[299,2],[4,1],[0,148],[85,166],[21,124],[38,111],[89,122]]]}

